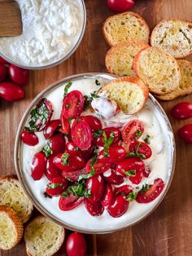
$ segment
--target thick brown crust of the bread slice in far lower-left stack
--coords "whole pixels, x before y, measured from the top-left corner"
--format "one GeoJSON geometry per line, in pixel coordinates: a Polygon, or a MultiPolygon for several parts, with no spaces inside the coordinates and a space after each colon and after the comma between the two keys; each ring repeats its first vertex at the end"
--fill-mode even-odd
{"type": "MultiPolygon", "coordinates": [[[[6,249],[11,249],[11,248],[15,247],[15,245],[17,245],[20,242],[20,240],[24,234],[23,223],[22,223],[20,217],[15,213],[15,211],[12,210],[8,206],[0,205],[0,212],[4,212],[7,215],[7,218],[10,218],[11,222],[15,226],[16,237],[15,237],[14,244],[11,245],[11,247],[6,248],[6,249]]],[[[12,233],[12,235],[14,235],[14,234],[12,233]]],[[[1,248],[1,249],[5,249],[5,248],[1,248]]]]}

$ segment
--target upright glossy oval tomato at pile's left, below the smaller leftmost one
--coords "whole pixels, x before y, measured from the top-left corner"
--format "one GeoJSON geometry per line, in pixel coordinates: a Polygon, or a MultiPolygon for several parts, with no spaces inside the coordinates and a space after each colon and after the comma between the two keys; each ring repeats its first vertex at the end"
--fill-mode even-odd
{"type": "Polygon", "coordinates": [[[46,156],[42,152],[37,152],[32,161],[31,175],[34,180],[42,178],[46,172],[46,156]]]}

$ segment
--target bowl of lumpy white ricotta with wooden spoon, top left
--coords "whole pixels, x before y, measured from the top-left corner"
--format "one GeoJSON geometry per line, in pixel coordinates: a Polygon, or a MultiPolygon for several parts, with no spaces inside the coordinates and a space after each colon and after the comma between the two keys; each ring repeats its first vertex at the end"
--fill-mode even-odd
{"type": "Polygon", "coordinates": [[[51,68],[67,60],[85,33],[83,0],[16,0],[23,33],[0,38],[0,56],[21,68],[51,68]]]}

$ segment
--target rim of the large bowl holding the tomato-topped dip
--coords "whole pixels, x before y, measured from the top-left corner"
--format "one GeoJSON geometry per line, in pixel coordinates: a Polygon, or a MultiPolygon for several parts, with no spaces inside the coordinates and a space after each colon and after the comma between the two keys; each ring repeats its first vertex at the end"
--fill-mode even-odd
{"type": "Polygon", "coordinates": [[[110,73],[80,73],[80,74],[76,74],[76,75],[72,75],[69,77],[65,77],[53,84],[51,84],[50,86],[47,86],[44,90],[42,90],[31,102],[31,104],[29,104],[28,108],[25,110],[23,117],[21,118],[20,121],[20,125],[19,128],[17,130],[17,134],[16,134],[16,138],[15,138],[15,148],[14,148],[14,161],[15,161],[15,170],[16,170],[16,174],[18,176],[18,179],[20,180],[21,186],[24,189],[24,192],[26,193],[26,195],[28,196],[29,200],[32,201],[33,205],[37,208],[37,210],[45,215],[47,218],[50,218],[52,221],[54,221],[55,223],[66,227],[74,232],[83,232],[83,233],[88,233],[88,234],[106,234],[106,233],[111,233],[111,232],[119,232],[121,230],[123,230],[126,227],[132,227],[133,225],[140,223],[144,218],[148,217],[161,203],[161,201],[163,201],[164,196],[167,194],[168,192],[168,188],[170,187],[170,184],[172,183],[172,177],[174,174],[174,170],[175,170],[175,164],[176,164],[176,144],[175,144],[175,138],[173,135],[173,131],[172,131],[172,126],[170,124],[170,121],[168,120],[168,117],[166,115],[166,113],[164,112],[164,109],[161,107],[161,105],[159,104],[159,102],[155,99],[155,97],[151,94],[149,94],[149,98],[152,100],[153,104],[156,105],[156,107],[158,108],[158,111],[163,115],[164,120],[166,122],[167,125],[167,129],[168,131],[171,133],[171,142],[172,142],[172,165],[169,166],[169,171],[170,174],[168,175],[168,180],[167,183],[165,185],[164,188],[164,192],[161,194],[161,196],[159,196],[159,201],[154,205],[154,207],[151,208],[150,211],[148,211],[146,214],[142,215],[142,217],[137,218],[136,220],[134,220],[131,223],[128,223],[127,225],[124,225],[124,227],[113,227],[109,230],[99,230],[99,229],[94,229],[94,230],[87,230],[86,228],[78,228],[76,226],[73,226],[71,224],[65,223],[65,222],[61,222],[59,220],[59,218],[54,217],[52,214],[50,214],[50,212],[48,212],[35,198],[35,196],[33,196],[33,193],[30,191],[30,188],[28,188],[27,183],[25,182],[24,179],[24,173],[22,171],[21,165],[20,165],[20,135],[21,135],[21,131],[24,129],[24,123],[26,122],[28,115],[30,113],[30,111],[32,110],[32,108],[37,104],[37,102],[42,98],[43,95],[45,95],[46,93],[50,92],[51,90],[54,90],[56,87],[59,87],[61,84],[63,83],[68,83],[70,81],[75,81],[76,79],[82,79],[85,77],[92,77],[92,78],[96,78],[96,77],[114,77],[117,78],[116,75],[111,75],[110,73]]]}

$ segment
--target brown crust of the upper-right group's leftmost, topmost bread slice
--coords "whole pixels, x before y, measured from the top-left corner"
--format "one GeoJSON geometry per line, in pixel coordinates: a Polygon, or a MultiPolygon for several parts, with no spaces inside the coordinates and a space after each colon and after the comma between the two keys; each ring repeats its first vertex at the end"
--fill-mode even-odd
{"type": "Polygon", "coordinates": [[[106,26],[107,26],[107,22],[109,20],[113,20],[116,16],[121,16],[121,15],[133,15],[135,16],[138,20],[142,20],[142,23],[144,24],[145,28],[146,28],[146,31],[147,31],[147,42],[149,42],[150,40],[150,28],[149,28],[149,25],[146,23],[146,20],[144,20],[142,18],[141,15],[137,14],[136,12],[133,12],[133,11],[125,11],[125,12],[122,12],[122,13],[119,13],[119,14],[116,14],[116,15],[111,15],[110,17],[107,18],[107,20],[104,21],[103,23],[103,28],[102,28],[102,33],[103,33],[103,38],[105,39],[105,41],[107,42],[108,46],[115,46],[116,44],[113,44],[111,43],[111,40],[107,37],[107,33],[106,33],[106,26]]]}

